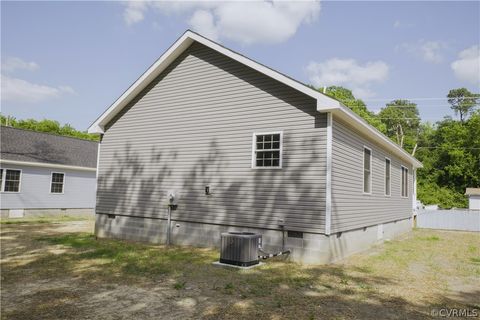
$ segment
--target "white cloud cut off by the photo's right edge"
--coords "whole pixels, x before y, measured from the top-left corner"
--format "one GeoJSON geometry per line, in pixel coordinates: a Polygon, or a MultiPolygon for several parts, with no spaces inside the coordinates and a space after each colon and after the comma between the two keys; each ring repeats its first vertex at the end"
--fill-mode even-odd
{"type": "Polygon", "coordinates": [[[480,86],[480,46],[461,51],[451,67],[459,80],[480,86]]]}

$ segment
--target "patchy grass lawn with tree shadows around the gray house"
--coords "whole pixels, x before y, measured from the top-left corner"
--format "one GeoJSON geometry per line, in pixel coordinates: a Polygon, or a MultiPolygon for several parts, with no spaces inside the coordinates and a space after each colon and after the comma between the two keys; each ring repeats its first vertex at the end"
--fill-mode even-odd
{"type": "MultiPolygon", "coordinates": [[[[52,221],[50,221],[52,222],[52,221]]],[[[2,319],[424,319],[480,309],[480,238],[415,230],[340,264],[238,270],[217,250],[96,240],[92,221],[1,226],[2,319]]]]}

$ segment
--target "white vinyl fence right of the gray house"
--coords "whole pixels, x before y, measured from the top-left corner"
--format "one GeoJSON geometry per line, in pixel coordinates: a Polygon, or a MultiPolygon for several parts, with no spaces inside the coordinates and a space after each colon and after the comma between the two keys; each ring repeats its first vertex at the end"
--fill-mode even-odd
{"type": "Polygon", "coordinates": [[[420,210],[417,227],[480,232],[480,210],[420,210]]]}

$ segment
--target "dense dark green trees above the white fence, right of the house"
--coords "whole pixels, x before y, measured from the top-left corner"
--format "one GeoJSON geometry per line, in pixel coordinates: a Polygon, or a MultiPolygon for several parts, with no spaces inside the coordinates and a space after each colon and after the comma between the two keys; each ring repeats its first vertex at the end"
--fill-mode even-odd
{"type": "Polygon", "coordinates": [[[446,118],[421,131],[417,158],[418,197],[442,207],[465,207],[465,188],[480,186],[480,111],[470,118],[446,118]]]}

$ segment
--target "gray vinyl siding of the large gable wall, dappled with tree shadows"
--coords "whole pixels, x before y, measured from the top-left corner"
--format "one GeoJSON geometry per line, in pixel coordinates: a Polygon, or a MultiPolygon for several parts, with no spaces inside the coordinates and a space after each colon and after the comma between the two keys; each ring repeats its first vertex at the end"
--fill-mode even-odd
{"type": "Polygon", "coordinates": [[[324,232],[326,115],[316,101],[198,43],[107,126],[97,213],[324,232]],[[283,131],[283,168],[252,169],[254,132],[283,131]],[[205,186],[211,195],[205,195],[205,186]]]}

